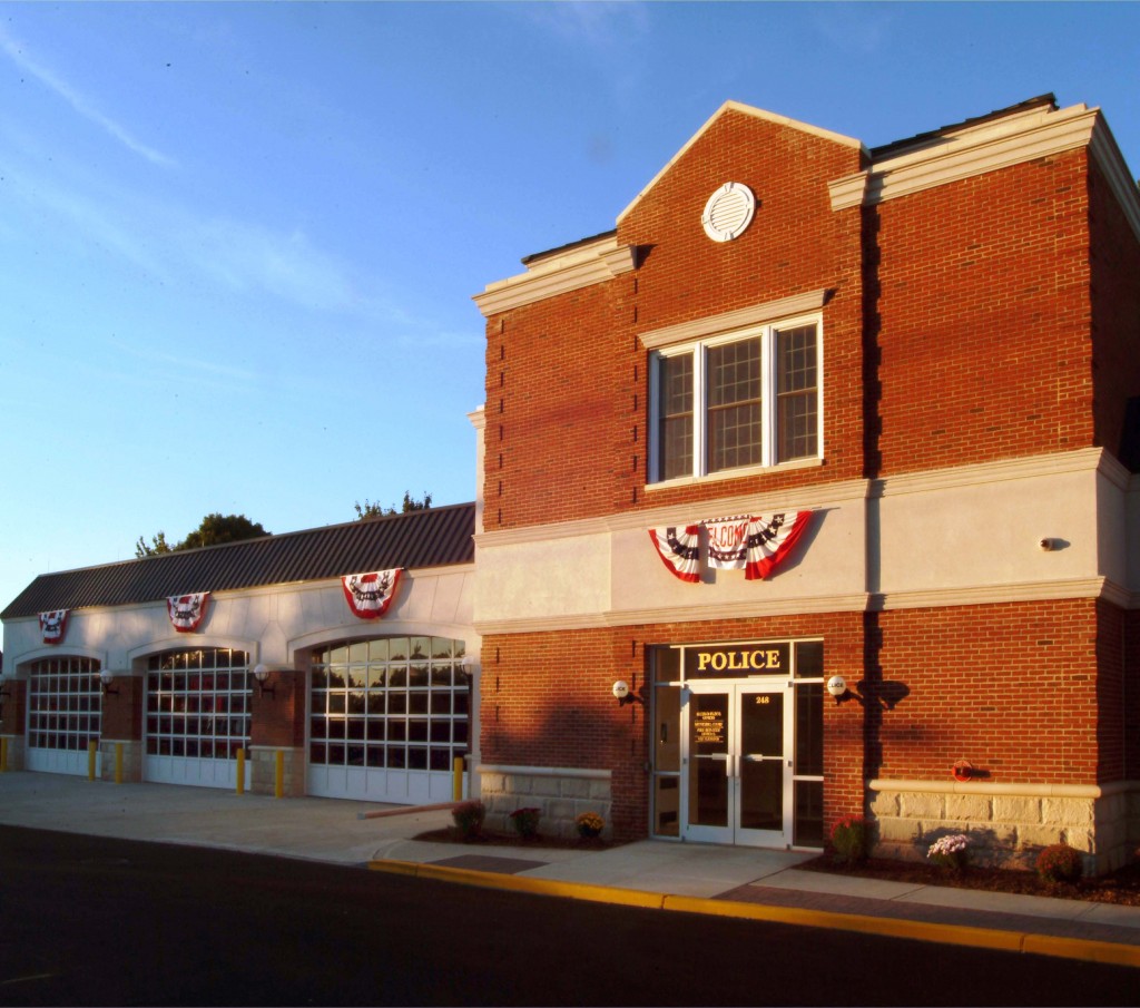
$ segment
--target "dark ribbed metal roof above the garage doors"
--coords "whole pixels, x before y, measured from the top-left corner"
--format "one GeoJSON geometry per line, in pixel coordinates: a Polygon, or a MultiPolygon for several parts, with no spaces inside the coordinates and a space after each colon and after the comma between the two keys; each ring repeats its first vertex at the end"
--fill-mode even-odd
{"type": "Polygon", "coordinates": [[[42,574],[0,612],[0,619],[54,609],[156,602],[192,592],[325,580],[394,567],[473,563],[474,531],[475,505],[453,504],[42,574]]]}

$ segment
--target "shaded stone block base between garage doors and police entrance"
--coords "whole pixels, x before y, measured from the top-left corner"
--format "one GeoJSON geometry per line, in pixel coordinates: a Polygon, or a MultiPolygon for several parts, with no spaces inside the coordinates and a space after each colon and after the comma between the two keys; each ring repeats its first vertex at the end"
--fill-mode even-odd
{"type": "Polygon", "coordinates": [[[613,834],[610,811],[613,805],[608,770],[575,770],[546,766],[480,766],[480,798],[487,806],[483,826],[507,832],[511,813],[516,808],[538,808],[538,830],[547,837],[573,839],[578,836],[575,819],[583,812],[596,812],[605,821],[602,837],[613,834]]]}

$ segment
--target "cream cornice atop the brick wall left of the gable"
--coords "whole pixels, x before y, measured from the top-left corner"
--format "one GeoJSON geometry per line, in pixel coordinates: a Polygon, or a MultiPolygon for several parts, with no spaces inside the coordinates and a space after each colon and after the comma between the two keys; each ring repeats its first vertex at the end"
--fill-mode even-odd
{"type": "Polygon", "coordinates": [[[629,273],[635,265],[633,246],[619,245],[617,238],[608,235],[563,254],[544,257],[528,266],[527,273],[488,284],[472,300],[483,317],[490,318],[500,311],[604,283],[629,273]]]}

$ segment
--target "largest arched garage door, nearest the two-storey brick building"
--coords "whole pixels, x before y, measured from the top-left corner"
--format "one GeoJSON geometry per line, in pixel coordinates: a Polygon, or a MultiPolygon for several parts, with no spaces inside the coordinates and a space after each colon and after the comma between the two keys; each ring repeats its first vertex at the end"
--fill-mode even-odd
{"type": "Polygon", "coordinates": [[[445,802],[467,751],[463,641],[377,637],[316,649],[309,693],[310,795],[445,802]]]}

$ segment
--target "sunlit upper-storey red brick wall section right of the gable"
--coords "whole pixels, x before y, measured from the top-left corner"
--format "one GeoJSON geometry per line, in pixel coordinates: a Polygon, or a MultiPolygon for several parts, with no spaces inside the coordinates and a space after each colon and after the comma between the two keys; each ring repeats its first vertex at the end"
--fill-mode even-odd
{"type": "Polygon", "coordinates": [[[1083,151],[878,208],[882,473],[1093,444],[1083,151]]]}

